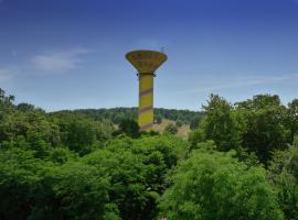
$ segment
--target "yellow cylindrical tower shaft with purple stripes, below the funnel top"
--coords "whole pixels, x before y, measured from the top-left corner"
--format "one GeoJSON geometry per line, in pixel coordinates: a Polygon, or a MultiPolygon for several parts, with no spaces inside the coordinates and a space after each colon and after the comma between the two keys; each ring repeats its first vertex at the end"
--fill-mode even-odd
{"type": "Polygon", "coordinates": [[[148,131],[153,125],[153,74],[139,74],[139,116],[141,131],[148,131]]]}

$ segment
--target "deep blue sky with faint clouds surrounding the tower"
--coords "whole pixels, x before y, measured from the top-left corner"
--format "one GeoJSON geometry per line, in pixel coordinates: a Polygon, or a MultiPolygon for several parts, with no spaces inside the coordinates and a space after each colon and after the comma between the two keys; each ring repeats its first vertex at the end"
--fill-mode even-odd
{"type": "Polygon", "coordinates": [[[137,48],[168,54],[156,107],[298,97],[298,0],[0,0],[0,87],[17,102],[137,106],[137,48]]]}

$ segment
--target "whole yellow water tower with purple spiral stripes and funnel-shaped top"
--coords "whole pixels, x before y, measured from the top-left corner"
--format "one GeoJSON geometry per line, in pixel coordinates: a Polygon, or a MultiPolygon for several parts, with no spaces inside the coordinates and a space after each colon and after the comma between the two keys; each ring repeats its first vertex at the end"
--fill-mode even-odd
{"type": "Polygon", "coordinates": [[[167,55],[155,51],[134,51],[126,58],[138,70],[139,77],[139,118],[141,131],[153,125],[153,77],[155,72],[167,61],[167,55]]]}

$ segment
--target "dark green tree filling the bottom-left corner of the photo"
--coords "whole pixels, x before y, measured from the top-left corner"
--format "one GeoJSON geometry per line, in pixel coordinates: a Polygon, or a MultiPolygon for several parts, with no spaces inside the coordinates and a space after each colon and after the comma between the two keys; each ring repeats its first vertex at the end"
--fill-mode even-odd
{"type": "Polygon", "coordinates": [[[0,151],[0,219],[26,219],[39,190],[41,160],[33,151],[0,151]],[[6,198],[6,199],[3,199],[6,198]]]}

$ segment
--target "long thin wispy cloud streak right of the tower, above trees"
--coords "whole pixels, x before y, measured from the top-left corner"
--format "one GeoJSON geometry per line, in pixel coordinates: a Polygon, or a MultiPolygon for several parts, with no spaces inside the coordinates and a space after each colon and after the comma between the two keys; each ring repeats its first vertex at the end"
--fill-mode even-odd
{"type": "Polygon", "coordinates": [[[266,85],[266,84],[274,84],[274,82],[281,82],[287,80],[298,79],[298,74],[291,75],[284,75],[279,77],[251,77],[251,78],[238,78],[238,79],[231,79],[230,81],[233,82],[222,82],[217,86],[209,86],[209,87],[201,87],[195,89],[188,89],[179,91],[179,94],[198,94],[198,92],[213,92],[217,90],[231,89],[231,88],[238,88],[238,87],[247,87],[247,86],[255,86],[255,85],[266,85]]]}

